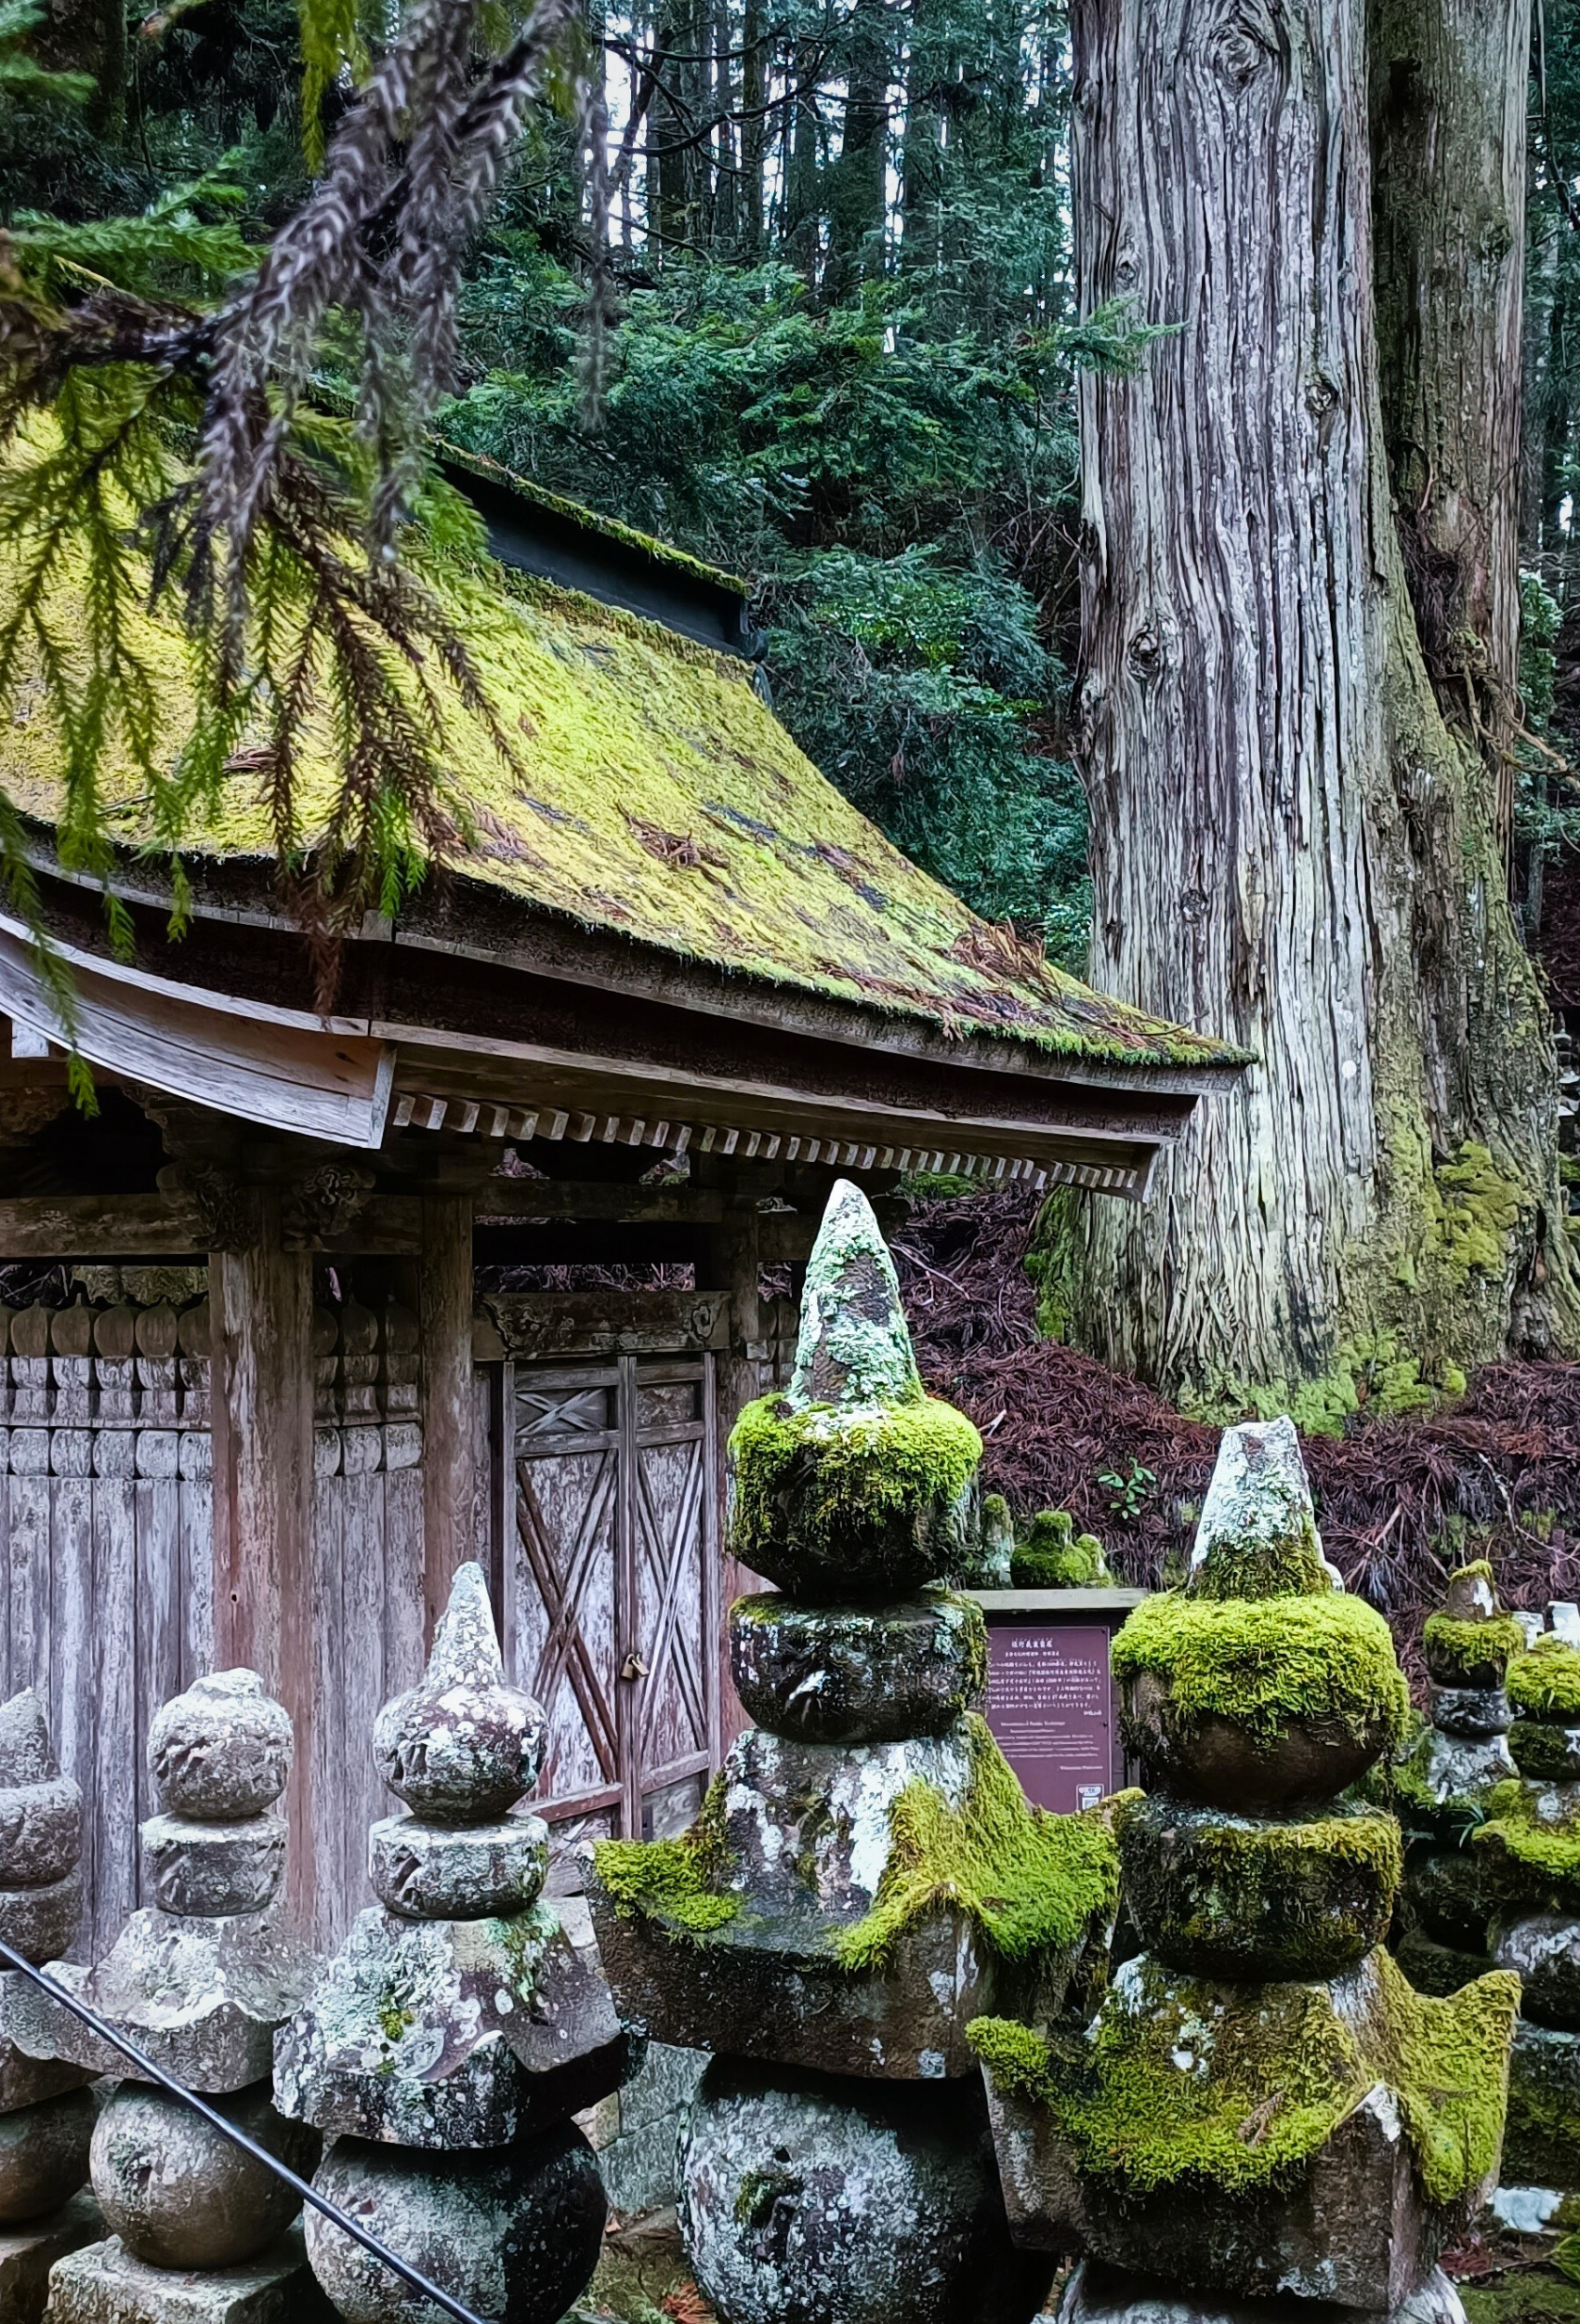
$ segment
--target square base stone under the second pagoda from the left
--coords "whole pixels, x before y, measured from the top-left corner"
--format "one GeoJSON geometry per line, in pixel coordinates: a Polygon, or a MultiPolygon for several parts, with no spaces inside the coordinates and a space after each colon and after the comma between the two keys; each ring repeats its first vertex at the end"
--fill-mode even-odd
{"type": "Polygon", "coordinates": [[[146,2268],[119,2236],[91,2243],[53,2268],[44,2324],[337,2324],[337,2317],[293,2229],[244,2268],[146,2268]]]}

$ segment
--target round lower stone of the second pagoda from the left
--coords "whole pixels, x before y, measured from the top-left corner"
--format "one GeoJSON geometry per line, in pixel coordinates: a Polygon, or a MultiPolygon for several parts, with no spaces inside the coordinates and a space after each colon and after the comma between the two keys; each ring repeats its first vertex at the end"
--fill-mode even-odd
{"type": "MultiPolygon", "coordinates": [[[[204,2103],[309,2178],[323,2140],[276,2115],[270,2096],[267,2082],[253,2082],[204,2103]]],[[[265,2164],[146,2082],[121,2082],[98,2119],[93,2194],[112,2233],[151,2268],[235,2268],[274,2243],[300,2208],[265,2164]]]]}

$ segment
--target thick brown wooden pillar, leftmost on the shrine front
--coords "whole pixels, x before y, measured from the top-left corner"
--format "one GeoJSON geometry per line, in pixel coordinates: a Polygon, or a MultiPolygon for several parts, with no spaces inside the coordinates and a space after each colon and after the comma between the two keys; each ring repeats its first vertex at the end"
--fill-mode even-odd
{"type": "Polygon", "coordinates": [[[214,1655],[246,1664],[295,1724],[290,1901],[314,1927],[314,1262],[279,1222],[209,1257],[214,1655]]]}

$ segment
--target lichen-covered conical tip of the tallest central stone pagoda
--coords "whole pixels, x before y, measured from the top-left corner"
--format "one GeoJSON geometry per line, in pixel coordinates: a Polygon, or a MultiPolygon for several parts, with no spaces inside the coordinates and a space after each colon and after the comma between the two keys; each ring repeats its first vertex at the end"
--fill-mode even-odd
{"type": "Polygon", "coordinates": [[[922,1376],[883,1229],[860,1185],[841,1178],[806,1262],[788,1401],[848,1411],[915,1404],[920,1394],[922,1376]]]}

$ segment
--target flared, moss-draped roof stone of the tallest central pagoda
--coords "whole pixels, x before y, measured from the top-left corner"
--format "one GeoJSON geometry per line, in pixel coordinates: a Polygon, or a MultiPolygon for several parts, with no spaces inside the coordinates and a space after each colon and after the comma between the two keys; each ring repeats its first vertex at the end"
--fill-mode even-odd
{"type": "Polygon", "coordinates": [[[1034,1817],[976,1720],[853,1748],[751,1729],[688,1841],[604,1848],[588,1889],[618,2003],[658,2040],[818,2073],[939,2080],[974,2071],[974,2017],[1046,2024],[1066,2006],[1108,1936],[1113,1848],[1073,1817],[1034,1817]],[[974,1913],[936,1901],[902,1915],[876,1954],[853,1948],[888,1894],[899,1803],[925,1796],[967,1834],[999,1780],[1013,1787],[1015,1862],[939,1864],[936,1882],[922,1871],[918,1887],[946,1892],[953,1875],[960,1894],[974,1875],[1004,1903],[1020,1880],[1027,1920],[1048,1913],[1057,1889],[1064,1941],[1006,1957],[974,1913]]]}

